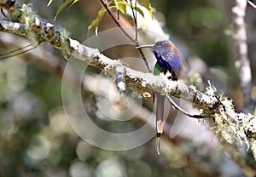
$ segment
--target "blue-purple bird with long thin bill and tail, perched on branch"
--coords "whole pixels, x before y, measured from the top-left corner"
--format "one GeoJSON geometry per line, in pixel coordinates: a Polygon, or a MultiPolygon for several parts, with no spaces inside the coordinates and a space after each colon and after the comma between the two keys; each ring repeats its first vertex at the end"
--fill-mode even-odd
{"type": "MultiPolygon", "coordinates": [[[[183,71],[183,64],[180,55],[177,53],[177,47],[172,41],[161,40],[154,44],[137,46],[137,48],[153,49],[156,63],[154,66],[154,75],[164,73],[168,79],[177,81],[183,71]]],[[[163,134],[163,118],[165,107],[165,95],[155,92],[156,98],[156,147],[157,154],[160,155],[160,135],[163,134]]]]}

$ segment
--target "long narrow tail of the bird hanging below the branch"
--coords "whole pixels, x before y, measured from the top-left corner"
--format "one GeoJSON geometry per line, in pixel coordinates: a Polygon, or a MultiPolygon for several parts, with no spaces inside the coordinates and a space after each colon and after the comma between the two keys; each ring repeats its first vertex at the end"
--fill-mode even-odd
{"type": "Polygon", "coordinates": [[[160,154],[160,135],[163,134],[163,118],[165,107],[165,95],[155,93],[156,96],[156,150],[160,154]]]}

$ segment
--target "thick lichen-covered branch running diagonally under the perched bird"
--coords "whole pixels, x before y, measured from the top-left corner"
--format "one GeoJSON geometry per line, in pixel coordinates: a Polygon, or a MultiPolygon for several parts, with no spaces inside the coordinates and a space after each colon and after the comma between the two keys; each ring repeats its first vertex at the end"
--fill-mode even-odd
{"type": "MultiPolygon", "coordinates": [[[[0,4],[3,8],[6,8],[1,1],[0,4]]],[[[18,6],[7,8],[6,10],[19,22],[0,20],[0,31],[26,36],[36,43],[49,43],[63,53],[70,54],[78,60],[83,60],[90,66],[95,66],[115,77],[115,68],[117,65],[121,65],[119,60],[111,60],[100,54],[98,49],[91,49],[82,45],[68,37],[64,30],[55,30],[55,26],[40,21],[37,15],[33,14],[32,9],[26,5],[21,8],[18,6]]],[[[236,149],[236,142],[245,142],[253,150],[254,158],[256,157],[256,117],[251,114],[236,113],[231,101],[224,96],[218,98],[216,88],[213,88],[211,84],[209,84],[207,92],[202,93],[194,86],[187,86],[183,81],[170,81],[164,75],[154,76],[151,73],[143,73],[126,66],[123,67],[122,74],[128,87],[142,95],[149,88],[162,94],[188,100],[193,106],[200,109],[202,114],[206,115],[212,123],[211,128],[217,135],[218,140],[228,147],[231,154],[236,149]]],[[[239,158],[236,162],[243,165],[246,163],[243,158],[239,158]]],[[[255,174],[255,167],[248,171],[247,174],[255,174]]]]}

